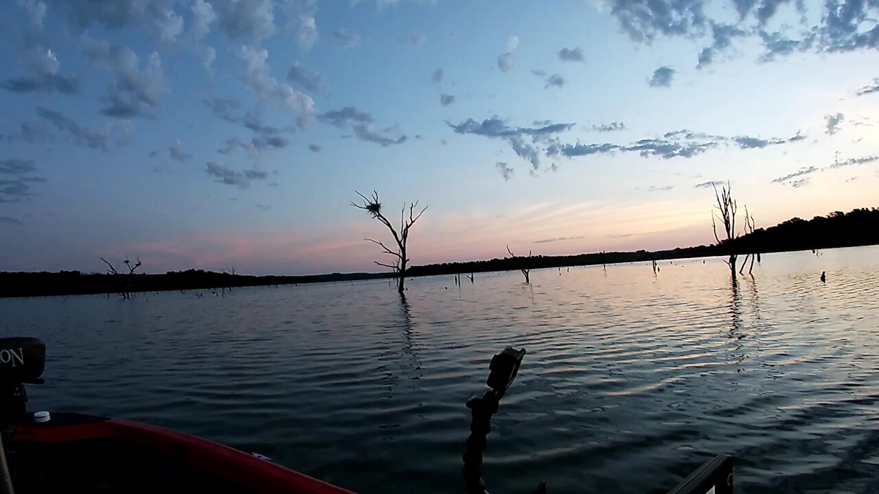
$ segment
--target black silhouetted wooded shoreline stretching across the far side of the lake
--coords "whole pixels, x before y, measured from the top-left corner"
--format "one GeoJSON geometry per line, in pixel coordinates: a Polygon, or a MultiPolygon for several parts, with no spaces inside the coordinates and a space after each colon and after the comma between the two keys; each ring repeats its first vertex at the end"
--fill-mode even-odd
{"type": "MultiPolygon", "coordinates": [[[[806,221],[793,218],[774,227],[755,229],[729,242],[700,245],[668,251],[597,252],[574,256],[532,256],[495,258],[483,261],[417,265],[407,269],[408,276],[431,276],[490,271],[530,270],[568,265],[603,265],[674,258],[728,256],[730,253],[807,251],[832,247],[879,244],[879,208],[835,212],[806,221]]],[[[257,287],[294,285],[328,281],[374,280],[393,278],[393,272],[351,272],[309,276],[248,276],[228,272],[188,270],[165,274],[133,274],[132,293],[161,290],[192,290],[222,287],[257,287]]],[[[62,272],[0,272],[0,297],[116,294],[119,280],[112,274],[62,272]]]]}

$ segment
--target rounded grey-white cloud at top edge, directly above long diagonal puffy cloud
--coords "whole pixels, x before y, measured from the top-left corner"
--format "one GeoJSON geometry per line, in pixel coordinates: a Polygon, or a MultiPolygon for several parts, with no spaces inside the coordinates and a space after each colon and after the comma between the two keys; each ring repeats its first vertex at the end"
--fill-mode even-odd
{"type": "Polygon", "coordinates": [[[217,0],[212,4],[229,40],[258,42],[275,32],[272,0],[217,0]]]}

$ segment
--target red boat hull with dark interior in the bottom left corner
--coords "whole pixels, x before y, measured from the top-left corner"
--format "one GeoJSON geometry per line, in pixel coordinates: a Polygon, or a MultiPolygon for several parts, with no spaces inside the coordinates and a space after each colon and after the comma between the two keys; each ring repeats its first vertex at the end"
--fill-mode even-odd
{"type": "MultiPolygon", "coordinates": [[[[134,476],[134,482],[137,482],[139,477],[149,479],[150,485],[155,483],[155,488],[160,490],[166,488],[158,486],[156,476],[169,477],[167,480],[171,487],[197,485],[199,479],[209,478],[213,490],[221,486],[221,490],[230,492],[352,494],[350,490],[286,469],[252,454],[182,432],[127,420],[80,414],[53,413],[52,415],[52,420],[46,423],[33,423],[31,420],[32,423],[12,425],[13,432],[7,447],[12,453],[13,477],[16,471],[28,472],[20,475],[25,480],[20,481],[21,488],[17,486],[17,492],[43,491],[40,487],[45,487],[47,483],[33,480],[34,477],[39,476],[35,470],[38,467],[45,468],[47,470],[43,472],[44,476],[57,476],[57,473],[55,475],[48,473],[48,470],[52,469],[50,463],[64,461],[64,453],[59,452],[67,451],[69,461],[78,461],[78,463],[76,468],[65,470],[64,476],[88,479],[84,480],[84,483],[108,485],[111,488],[107,490],[111,491],[125,491],[132,487],[142,488],[137,491],[149,491],[149,489],[144,487],[144,483],[134,486],[117,485],[120,483],[119,480],[102,483],[99,478],[101,466],[92,465],[100,460],[84,461],[84,455],[95,454],[94,458],[110,458],[112,461],[108,462],[113,463],[114,471],[105,472],[108,477],[118,479],[121,469],[126,471],[128,476],[134,476]],[[96,448],[101,451],[95,452],[96,448]],[[133,456],[136,458],[126,461],[124,458],[114,457],[125,452],[135,452],[133,456]],[[19,468],[15,469],[16,462],[32,464],[19,465],[19,468]],[[117,463],[121,466],[116,466],[117,463]],[[82,471],[91,469],[91,466],[95,467],[96,471],[82,471]],[[32,488],[29,489],[28,486],[32,488]]],[[[68,490],[79,491],[75,485],[76,478],[68,479],[69,483],[66,484],[68,490]]]]}

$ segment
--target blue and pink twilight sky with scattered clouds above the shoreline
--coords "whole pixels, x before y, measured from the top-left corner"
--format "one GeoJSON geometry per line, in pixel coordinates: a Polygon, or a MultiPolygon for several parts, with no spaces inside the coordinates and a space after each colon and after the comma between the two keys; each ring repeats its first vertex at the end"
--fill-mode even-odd
{"type": "Polygon", "coordinates": [[[876,207],[876,0],[10,0],[0,271],[381,271],[876,207]],[[744,224],[744,222],[742,222],[744,224]]]}

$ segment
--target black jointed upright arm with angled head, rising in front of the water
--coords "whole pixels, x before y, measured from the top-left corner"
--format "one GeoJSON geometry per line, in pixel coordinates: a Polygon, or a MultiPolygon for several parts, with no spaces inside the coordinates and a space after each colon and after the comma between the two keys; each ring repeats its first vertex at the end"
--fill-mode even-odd
{"type": "MultiPolygon", "coordinates": [[[[510,389],[512,381],[519,373],[519,366],[525,357],[525,349],[514,350],[507,346],[502,352],[491,358],[490,373],[486,384],[489,390],[483,396],[474,396],[467,401],[470,409],[470,435],[467,448],[461,460],[461,476],[464,477],[464,490],[467,494],[488,494],[483,480],[483,451],[488,445],[487,437],[491,432],[491,416],[498,411],[500,399],[510,389]]],[[[546,492],[546,483],[541,483],[534,494],[546,492]]]]}

